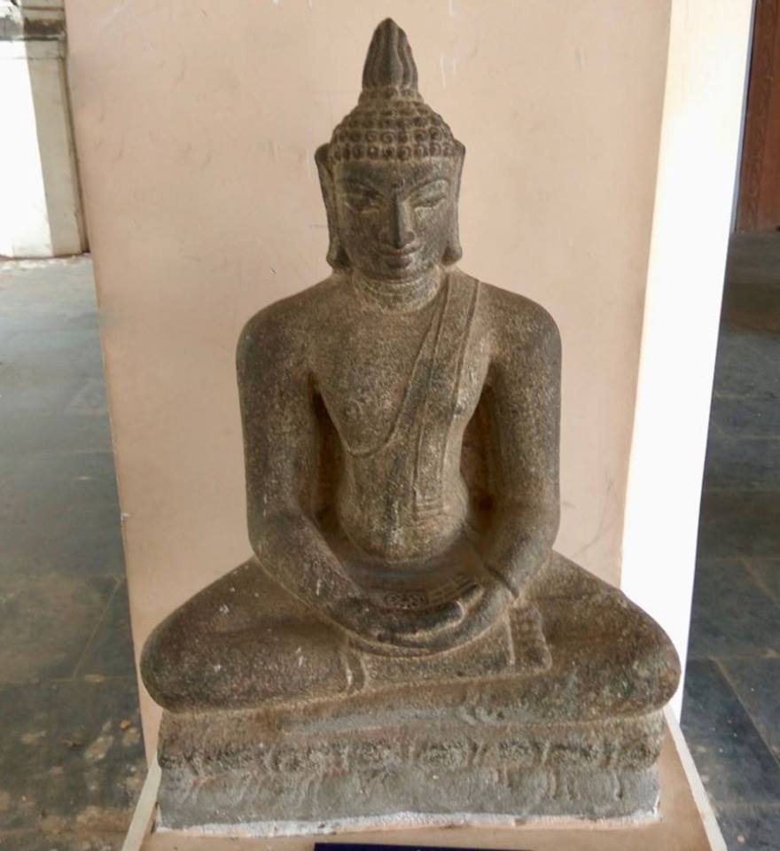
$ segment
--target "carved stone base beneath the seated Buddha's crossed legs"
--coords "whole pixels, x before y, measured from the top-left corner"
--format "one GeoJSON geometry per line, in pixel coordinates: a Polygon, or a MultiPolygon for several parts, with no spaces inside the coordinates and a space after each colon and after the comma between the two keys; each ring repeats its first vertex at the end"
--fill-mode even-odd
{"type": "Polygon", "coordinates": [[[208,714],[163,725],[159,828],[275,836],[539,817],[641,820],[659,800],[660,713],[543,725],[409,719],[360,734],[346,722],[232,745],[208,736],[208,726],[208,714]]]}

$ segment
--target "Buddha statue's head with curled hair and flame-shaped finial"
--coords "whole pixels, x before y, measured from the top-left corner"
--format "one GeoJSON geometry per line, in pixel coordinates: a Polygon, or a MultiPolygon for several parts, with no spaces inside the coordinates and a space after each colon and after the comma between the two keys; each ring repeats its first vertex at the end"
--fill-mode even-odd
{"type": "Polygon", "coordinates": [[[358,105],[316,152],[331,266],[406,281],[456,262],[464,153],[417,91],[406,34],[383,21],[371,39],[358,105]]]}

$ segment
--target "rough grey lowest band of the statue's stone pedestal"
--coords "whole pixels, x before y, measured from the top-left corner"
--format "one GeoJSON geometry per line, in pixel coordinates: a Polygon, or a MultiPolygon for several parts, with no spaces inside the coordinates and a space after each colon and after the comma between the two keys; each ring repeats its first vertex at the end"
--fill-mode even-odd
{"type": "MultiPolygon", "coordinates": [[[[452,745],[442,746],[446,755],[452,745]]],[[[413,746],[410,746],[413,747],[413,746]]],[[[425,750],[426,744],[419,745],[425,750]]],[[[160,828],[207,831],[251,825],[267,835],[335,832],[382,824],[516,824],[529,818],[654,816],[658,770],[577,766],[482,768],[404,762],[397,767],[277,772],[231,769],[203,777],[167,769],[160,828]],[[295,814],[291,818],[291,813],[295,814]],[[260,814],[261,817],[256,817],[260,814]]]]}

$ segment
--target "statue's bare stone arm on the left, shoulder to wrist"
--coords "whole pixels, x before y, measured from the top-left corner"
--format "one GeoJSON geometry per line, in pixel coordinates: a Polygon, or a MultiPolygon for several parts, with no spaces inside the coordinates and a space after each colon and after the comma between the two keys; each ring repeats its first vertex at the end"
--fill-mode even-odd
{"type": "Polygon", "coordinates": [[[354,594],[311,516],[318,441],[304,341],[256,317],[238,342],[249,538],[261,566],[334,620],[354,594]]]}

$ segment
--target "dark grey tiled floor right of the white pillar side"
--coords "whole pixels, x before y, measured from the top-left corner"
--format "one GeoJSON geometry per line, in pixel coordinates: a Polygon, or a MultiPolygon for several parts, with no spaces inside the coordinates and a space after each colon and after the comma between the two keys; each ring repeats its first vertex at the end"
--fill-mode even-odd
{"type": "Polygon", "coordinates": [[[683,731],[730,849],[780,849],[780,233],[732,241],[683,731]]]}

